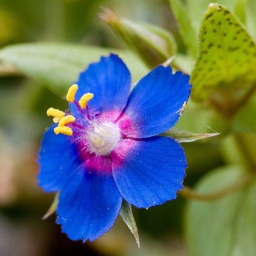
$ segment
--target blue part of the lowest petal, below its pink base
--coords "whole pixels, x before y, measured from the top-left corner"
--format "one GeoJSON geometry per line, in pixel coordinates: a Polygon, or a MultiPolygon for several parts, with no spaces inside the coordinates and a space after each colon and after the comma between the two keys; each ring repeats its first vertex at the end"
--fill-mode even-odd
{"type": "Polygon", "coordinates": [[[113,226],[122,197],[112,174],[85,168],[80,165],[61,190],[57,222],[69,238],[93,241],[113,226]]]}

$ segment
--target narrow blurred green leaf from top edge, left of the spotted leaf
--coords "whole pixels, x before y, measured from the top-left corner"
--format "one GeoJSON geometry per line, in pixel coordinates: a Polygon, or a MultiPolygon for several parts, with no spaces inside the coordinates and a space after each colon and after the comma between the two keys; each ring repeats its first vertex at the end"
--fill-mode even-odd
{"type": "Polygon", "coordinates": [[[188,48],[191,57],[195,58],[198,49],[198,38],[197,31],[195,30],[193,23],[191,23],[189,13],[181,0],[169,0],[169,2],[175,17],[178,20],[184,44],[188,48]]]}

